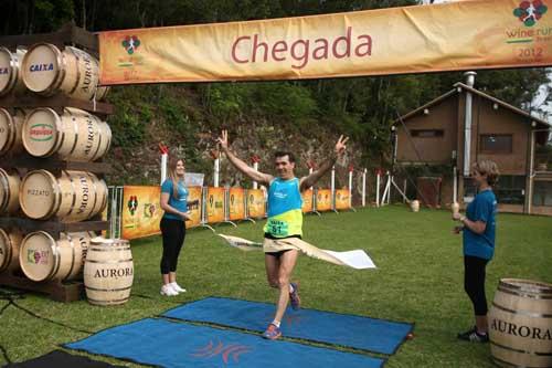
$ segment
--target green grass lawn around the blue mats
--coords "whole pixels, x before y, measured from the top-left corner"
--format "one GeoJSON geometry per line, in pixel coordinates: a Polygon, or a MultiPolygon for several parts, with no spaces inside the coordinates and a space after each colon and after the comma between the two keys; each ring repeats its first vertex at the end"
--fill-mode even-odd
{"type": "MultiPolygon", "coordinates": [[[[490,302],[502,277],[552,283],[552,219],[499,214],[497,251],[487,267],[490,302]]],[[[456,334],[470,327],[473,309],[463,290],[461,238],[452,233],[446,211],[410,212],[406,207],[362,209],[305,218],[305,240],[322,249],[364,249],[376,270],[357,271],[301,256],[294,278],[301,282],[302,306],[376,318],[415,323],[414,339],[391,356],[386,367],[493,367],[489,345],[458,341],[456,334]]],[[[262,240],[263,221],[223,224],[221,233],[262,240]]],[[[159,295],[160,239],[132,242],[134,297],[117,307],[96,307],[86,301],[56,303],[25,294],[15,303],[47,318],[39,319],[2,299],[0,290],[0,345],[12,361],[36,357],[60,344],[144,317],[156,316],[177,304],[211,295],[274,302],[267,287],[262,252],[243,252],[227,245],[210,230],[188,233],[179,263],[179,283],[188,293],[159,295]]],[[[489,303],[490,304],[490,303],[489,303]]],[[[78,353],[75,353],[78,354],[78,353]]],[[[117,365],[139,367],[95,357],[117,365]]],[[[0,366],[6,362],[0,351],[0,366]]]]}

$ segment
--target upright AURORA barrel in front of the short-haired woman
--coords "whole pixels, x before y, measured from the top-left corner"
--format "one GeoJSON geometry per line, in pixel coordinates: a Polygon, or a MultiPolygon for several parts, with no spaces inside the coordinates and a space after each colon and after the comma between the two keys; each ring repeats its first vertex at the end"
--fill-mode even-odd
{"type": "Polygon", "coordinates": [[[501,280],[489,338],[492,360],[501,367],[552,367],[552,284],[501,280]]]}

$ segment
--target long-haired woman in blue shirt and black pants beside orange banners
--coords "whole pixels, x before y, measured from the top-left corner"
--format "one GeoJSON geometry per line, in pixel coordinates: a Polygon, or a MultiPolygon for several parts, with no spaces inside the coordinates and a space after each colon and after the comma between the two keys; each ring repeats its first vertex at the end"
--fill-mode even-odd
{"type": "Polygon", "coordinates": [[[177,284],[178,256],[184,244],[185,221],[190,220],[184,172],[183,160],[169,160],[169,178],[161,185],[161,209],[164,211],[160,223],[163,239],[161,295],[167,296],[185,293],[185,290],[177,284]]]}

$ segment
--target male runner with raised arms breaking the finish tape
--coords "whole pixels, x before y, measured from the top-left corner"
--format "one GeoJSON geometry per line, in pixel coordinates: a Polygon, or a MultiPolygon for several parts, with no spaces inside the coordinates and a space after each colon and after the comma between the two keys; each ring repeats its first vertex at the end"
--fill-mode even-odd
{"type": "Polygon", "coordinates": [[[264,227],[263,250],[265,252],[268,284],[272,287],[279,288],[279,297],[274,320],[263,334],[265,338],[277,339],[282,336],[279,326],[289,301],[291,301],[294,309],[300,307],[299,287],[296,283],[290,283],[298,255],[297,246],[294,243],[300,245],[302,235],[302,199],[300,192],[312,187],[318,179],[331,169],[338,157],[344,154],[348,139],[340,136],[332,155],[320,168],[300,179],[295,177],[295,157],[291,153],[277,151],[274,155],[277,176],[273,177],[256,171],[237,158],[229,148],[226,130],[223,130],[222,136],[216,139],[221,150],[226,154],[232,165],[252,180],[268,187],[268,219],[264,227]]]}

